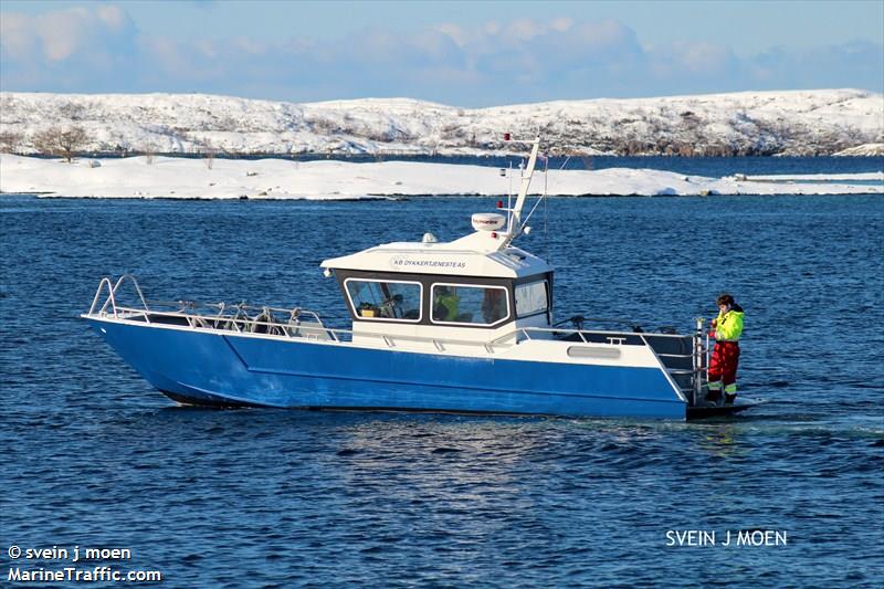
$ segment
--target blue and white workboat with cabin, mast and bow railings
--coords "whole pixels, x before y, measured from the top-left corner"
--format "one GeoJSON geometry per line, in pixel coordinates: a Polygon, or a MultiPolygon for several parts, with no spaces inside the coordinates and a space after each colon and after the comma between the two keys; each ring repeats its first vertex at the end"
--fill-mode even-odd
{"type": "Polygon", "coordinates": [[[514,244],[545,197],[525,214],[540,138],[520,144],[517,194],[466,235],[322,262],[349,328],[299,307],[148,301],[130,275],[102,278],[82,317],[182,404],[675,420],[751,407],[705,401],[703,319],[686,334],[554,322],[554,269],[514,244]]]}

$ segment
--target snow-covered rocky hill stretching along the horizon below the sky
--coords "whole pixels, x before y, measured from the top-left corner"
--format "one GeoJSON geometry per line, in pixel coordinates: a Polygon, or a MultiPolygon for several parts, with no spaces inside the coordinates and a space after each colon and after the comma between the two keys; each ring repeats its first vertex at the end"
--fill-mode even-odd
{"type": "Polygon", "coordinates": [[[0,138],[14,151],[33,152],[36,133],[71,125],[86,130],[87,151],[478,155],[508,151],[502,134],[511,132],[540,133],[552,152],[829,155],[884,143],[884,95],[745,92],[469,109],[404,98],[0,93],[0,138]]]}

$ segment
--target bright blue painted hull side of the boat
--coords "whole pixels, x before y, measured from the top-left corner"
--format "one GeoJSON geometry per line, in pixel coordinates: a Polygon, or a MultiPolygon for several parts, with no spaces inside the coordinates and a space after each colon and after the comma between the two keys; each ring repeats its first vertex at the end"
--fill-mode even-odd
{"type": "Polygon", "coordinates": [[[176,400],[684,420],[661,369],[453,357],[90,319],[176,400]]]}

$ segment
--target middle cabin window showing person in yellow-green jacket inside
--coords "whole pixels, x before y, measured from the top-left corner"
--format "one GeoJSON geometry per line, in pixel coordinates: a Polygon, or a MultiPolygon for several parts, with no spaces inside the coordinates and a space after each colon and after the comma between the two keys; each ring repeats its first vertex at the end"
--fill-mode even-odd
{"type": "Polygon", "coordinates": [[[495,325],[509,317],[503,286],[433,284],[433,323],[495,325]]]}

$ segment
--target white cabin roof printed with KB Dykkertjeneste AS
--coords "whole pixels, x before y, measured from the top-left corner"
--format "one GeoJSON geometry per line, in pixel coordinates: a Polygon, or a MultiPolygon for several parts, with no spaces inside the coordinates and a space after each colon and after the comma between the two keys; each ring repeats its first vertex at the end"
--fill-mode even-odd
{"type": "Polygon", "coordinates": [[[478,231],[449,243],[385,243],[355,254],[325,260],[327,269],[408,274],[517,278],[550,272],[539,257],[518,248],[498,250],[506,233],[478,231]]]}

